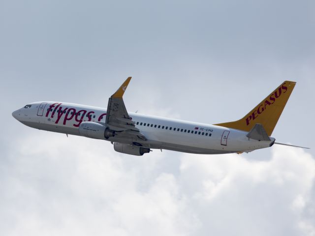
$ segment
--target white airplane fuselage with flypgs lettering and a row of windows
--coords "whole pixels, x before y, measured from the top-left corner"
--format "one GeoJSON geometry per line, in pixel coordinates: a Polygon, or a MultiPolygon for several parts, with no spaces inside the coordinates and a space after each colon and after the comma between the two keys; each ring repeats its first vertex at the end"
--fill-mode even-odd
{"type": "MultiPolygon", "coordinates": [[[[63,102],[35,102],[18,109],[12,116],[33,128],[80,135],[84,121],[105,122],[106,109],[63,102]],[[54,106],[52,107],[52,104],[54,106]]],[[[219,154],[270,147],[275,141],[249,139],[247,132],[216,125],[129,113],[136,128],[148,139],[148,148],[219,154]]],[[[115,137],[105,139],[120,142],[115,137]]]]}

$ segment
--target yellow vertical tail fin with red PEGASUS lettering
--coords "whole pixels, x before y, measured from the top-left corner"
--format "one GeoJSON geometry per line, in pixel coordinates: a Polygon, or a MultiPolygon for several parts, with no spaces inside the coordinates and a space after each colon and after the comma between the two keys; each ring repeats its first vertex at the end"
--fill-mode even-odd
{"type": "Polygon", "coordinates": [[[268,136],[271,136],[295,84],[296,82],[293,81],[284,81],[245,117],[237,121],[215,125],[249,132],[256,123],[260,123],[268,136]]]}

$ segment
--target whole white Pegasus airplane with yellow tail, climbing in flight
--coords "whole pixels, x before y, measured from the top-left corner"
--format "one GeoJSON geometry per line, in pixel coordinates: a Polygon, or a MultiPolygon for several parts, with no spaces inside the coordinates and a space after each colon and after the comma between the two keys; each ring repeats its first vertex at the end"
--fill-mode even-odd
{"type": "Polygon", "coordinates": [[[123,95],[131,80],[109,98],[107,109],[66,102],[29,103],[12,116],[32,128],[110,141],[114,150],[141,156],[151,149],[198,154],[250,152],[276,143],[271,134],[296,82],[284,81],[245,117],[205,124],[127,112],[123,95]]]}

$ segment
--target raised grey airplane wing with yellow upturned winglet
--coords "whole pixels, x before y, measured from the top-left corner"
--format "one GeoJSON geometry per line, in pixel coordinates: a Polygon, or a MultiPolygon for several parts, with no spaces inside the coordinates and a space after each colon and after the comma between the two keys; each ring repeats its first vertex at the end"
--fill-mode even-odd
{"type": "Polygon", "coordinates": [[[123,100],[123,95],[130,80],[131,77],[128,77],[122,86],[108,99],[105,125],[116,131],[117,138],[133,138],[147,141],[147,138],[135,127],[135,122],[128,115],[123,100]]]}

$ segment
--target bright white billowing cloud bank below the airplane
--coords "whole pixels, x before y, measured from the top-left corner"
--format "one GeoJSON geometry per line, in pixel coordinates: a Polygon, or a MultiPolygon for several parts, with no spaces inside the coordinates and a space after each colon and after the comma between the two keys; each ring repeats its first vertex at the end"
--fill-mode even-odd
{"type": "Polygon", "coordinates": [[[259,162],[254,152],[180,154],[166,173],[178,153],[135,157],[40,134],[21,139],[1,168],[1,235],[315,234],[315,160],[302,149],[273,147],[259,162]]]}

